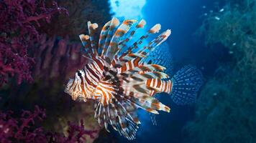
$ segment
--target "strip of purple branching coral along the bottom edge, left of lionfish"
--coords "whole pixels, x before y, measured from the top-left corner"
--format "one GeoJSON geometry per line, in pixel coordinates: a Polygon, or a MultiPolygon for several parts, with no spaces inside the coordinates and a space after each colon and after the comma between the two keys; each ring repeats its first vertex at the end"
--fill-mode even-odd
{"type": "Polygon", "coordinates": [[[81,125],[68,122],[68,135],[47,132],[43,127],[35,127],[35,122],[45,119],[45,109],[35,106],[34,112],[22,111],[21,117],[12,117],[12,112],[0,113],[0,141],[6,142],[86,142],[86,136],[94,138],[96,130],[84,129],[81,125]]]}

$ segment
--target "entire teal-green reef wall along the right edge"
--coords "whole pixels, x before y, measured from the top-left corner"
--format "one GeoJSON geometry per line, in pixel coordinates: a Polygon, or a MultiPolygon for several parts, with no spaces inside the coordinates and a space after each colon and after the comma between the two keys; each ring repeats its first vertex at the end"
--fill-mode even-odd
{"type": "MultiPolygon", "coordinates": [[[[196,104],[186,130],[190,142],[256,142],[256,1],[232,1],[201,26],[206,44],[223,44],[232,61],[221,63],[196,104]]],[[[214,47],[214,46],[213,46],[214,47]]]]}

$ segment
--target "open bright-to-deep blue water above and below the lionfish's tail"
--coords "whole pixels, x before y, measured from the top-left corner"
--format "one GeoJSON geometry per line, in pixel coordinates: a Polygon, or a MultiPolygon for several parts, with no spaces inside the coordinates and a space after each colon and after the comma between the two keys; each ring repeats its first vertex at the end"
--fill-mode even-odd
{"type": "MultiPolygon", "coordinates": [[[[196,30],[202,24],[204,14],[214,9],[214,0],[147,0],[147,1],[112,1],[114,16],[121,19],[145,19],[146,29],[160,23],[162,31],[171,29],[172,34],[166,41],[173,56],[173,69],[179,69],[186,64],[194,64],[201,69],[204,76],[213,74],[216,69],[216,53],[207,52],[204,39],[196,36],[196,30]],[[135,16],[135,17],[133,17],[135,16]]],[[[224,55],[223,55],[224,56],[224,55]]],[[[186,134],[184,125],[193,119],[194,105],[177,106],[167,94],[160,96],[160,101],[171,108],[170,113],[160,112],[157,115],[157,126],[152,125],[149,114],[140,112],[142,124],[133,142],[184,142],[186,134]]],[[[124,137],[111,132],[118,142],[130,142],[124,137]]],[[[186,141],[188,142],[188,141],[186,141]]]]}

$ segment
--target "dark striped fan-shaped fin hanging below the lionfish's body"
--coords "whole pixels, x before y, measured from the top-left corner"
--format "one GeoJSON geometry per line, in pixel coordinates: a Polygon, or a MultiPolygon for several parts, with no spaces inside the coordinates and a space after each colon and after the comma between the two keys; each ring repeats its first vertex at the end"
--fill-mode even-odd
{"type": "Polygon", "coordinates": [[[104,124],[107,132],[109,132],[108,125],[111,125],[114,130],[127,137],[127,139],[134,139],[138,128],[136,122],[137,108],[122,97],[116,97],[118,99],[115,97],[112,98],[112,103],[98,103],[95,111],[96,119],[100,125],[104,124]]]}

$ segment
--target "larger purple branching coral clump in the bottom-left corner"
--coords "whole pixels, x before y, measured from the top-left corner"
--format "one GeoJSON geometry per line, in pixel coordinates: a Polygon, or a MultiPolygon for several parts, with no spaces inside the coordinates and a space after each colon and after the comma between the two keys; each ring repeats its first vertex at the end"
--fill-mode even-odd
{"type": "Polygon", "coordinates": [[[23,111],[20,119],[11,117],[12,112],[0,113],[0,141],[5,142],[47,142],[42,128],[32,129],[35,119],[45,118],[45,110],[35,107],[34,112],[23,111]]]}

